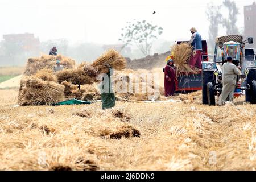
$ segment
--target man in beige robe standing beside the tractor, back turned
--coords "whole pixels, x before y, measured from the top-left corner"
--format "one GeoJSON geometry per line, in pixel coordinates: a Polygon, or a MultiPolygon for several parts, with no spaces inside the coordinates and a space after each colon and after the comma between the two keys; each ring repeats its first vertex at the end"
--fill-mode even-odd
{"type": "Polygon", "coordinates": [[[233,101],[234,90],[237,84],[237,75],[241,75],[241,67],[237,68],[232,61],[232,57],[229,56],[227,57],[227,62],[222,66],[223,87],[220,100],[218,101],[219,105],[223,105],[223,102],[225,101],[233,101]]]}

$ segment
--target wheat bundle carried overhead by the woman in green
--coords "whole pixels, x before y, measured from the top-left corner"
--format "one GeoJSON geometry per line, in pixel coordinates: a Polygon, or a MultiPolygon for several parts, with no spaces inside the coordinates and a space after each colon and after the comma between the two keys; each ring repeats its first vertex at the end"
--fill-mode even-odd
{"type": "Polygon", "coordinates": [[[108,73],[109,69],[106,64],[109,64],[115,70],[122,70],[126,67],[126,59],[118,51],[109,49],[93,61],[92,67],[97,69],[99,73],[108,73]]]}

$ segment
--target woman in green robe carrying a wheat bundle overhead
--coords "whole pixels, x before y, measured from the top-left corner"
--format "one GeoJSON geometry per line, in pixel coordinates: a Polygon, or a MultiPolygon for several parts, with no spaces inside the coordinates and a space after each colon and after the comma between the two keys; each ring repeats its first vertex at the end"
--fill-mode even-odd
{"type": "Polygon", "coordinates": [[[101,86],[101,102],[103,110],[115,106],[115,94],[111,84],[111,75],[113,74],[113,70],[109,64],[106,64],[106,66],[109,68],[109,72],[102,78],[101,86]]]}

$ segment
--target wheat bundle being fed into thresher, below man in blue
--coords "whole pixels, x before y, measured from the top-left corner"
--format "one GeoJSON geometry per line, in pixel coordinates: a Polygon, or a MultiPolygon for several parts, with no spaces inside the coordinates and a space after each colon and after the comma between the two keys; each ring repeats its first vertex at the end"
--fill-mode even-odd
{"type": "Polygon", "coordinates": [[[192,55],[192,46],[181,43],[172,46],[171,52],[174,56],[174,64],[176,65],[176,77],[180,73],[200,73],[200,69],[192,67],[188,64],[188,61],[192,55]]]}

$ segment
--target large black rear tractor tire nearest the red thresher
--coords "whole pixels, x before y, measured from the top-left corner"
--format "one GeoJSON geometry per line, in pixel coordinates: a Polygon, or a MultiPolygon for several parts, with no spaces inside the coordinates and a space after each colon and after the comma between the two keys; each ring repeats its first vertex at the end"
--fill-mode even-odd
{"type": "Polygon", "coordinates": [[[208,97],[207,97],[208,82],[212,82],[212,84],[214,83],[213,71],[203,71],[202,72],[202,103],[203,104],[209,104],[208,97]]]}

